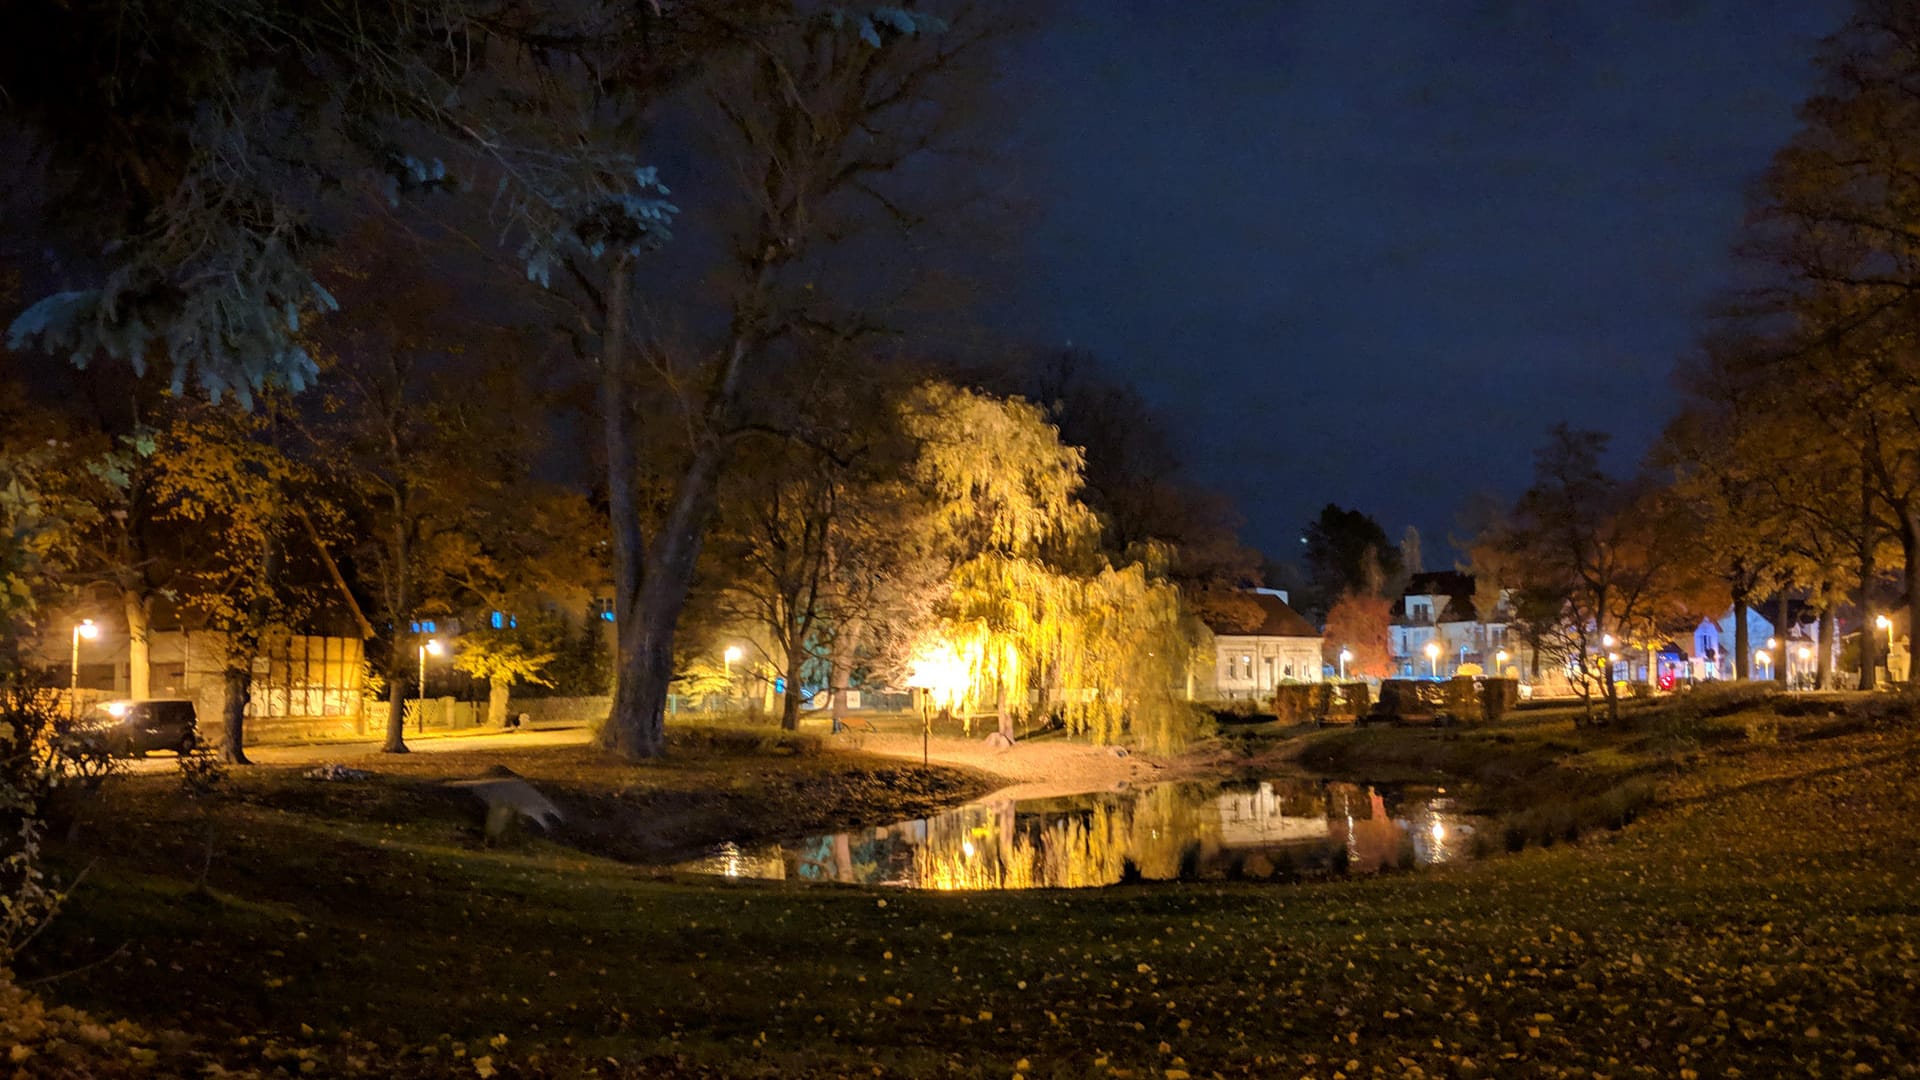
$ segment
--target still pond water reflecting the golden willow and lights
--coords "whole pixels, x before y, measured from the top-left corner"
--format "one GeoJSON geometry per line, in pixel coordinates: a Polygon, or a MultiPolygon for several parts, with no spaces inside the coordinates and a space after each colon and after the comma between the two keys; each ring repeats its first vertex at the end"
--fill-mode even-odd
{"type": "Polygon", "coordinates": [[[674,869],[925,890],[1302,880],[1463,859],[1480,826],[1446,788],[1315,778],[1173,782],[1056,799],[983,799],[789,844],[722,844],[674,869]]]}

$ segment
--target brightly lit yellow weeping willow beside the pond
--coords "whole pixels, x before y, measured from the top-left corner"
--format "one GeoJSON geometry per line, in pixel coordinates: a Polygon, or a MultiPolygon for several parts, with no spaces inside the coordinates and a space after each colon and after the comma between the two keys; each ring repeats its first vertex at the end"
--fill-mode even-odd
{"type": "Polygon", "coordinates": [[[991,707],[1008,738],[1016,711],[1058,709],[1094,742],[1177,744],[1173,684],[1192,648],[1181,596],[1160,553],[1114,567],[1100,552],[1077,500],[1081,452],[1037,405],[945,384],[920,390],[908,427],[954,557],[920,682],[956,711],[991,707]]]}

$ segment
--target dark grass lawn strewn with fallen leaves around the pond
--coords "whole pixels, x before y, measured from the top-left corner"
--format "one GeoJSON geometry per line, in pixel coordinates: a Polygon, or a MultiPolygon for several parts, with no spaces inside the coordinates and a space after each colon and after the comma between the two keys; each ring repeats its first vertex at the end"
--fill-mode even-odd
{"type": "MultiPolygon", "coordinates": [[[[1346,742],[1309,757],[1438,759],[1482,784],[1505,761],[1515,784],[1592,794],[1640,778],[1663,799],[1578,844],[1313,886],[662,880],[545,840],[488,847],[463,807],[401,780],[248,771],[192,805],[167,776],[134,778],[65,853],[92,869],[21,978],[56,976],[33,990],[140,1030],[25,1061],[321,1076],[1920,1076],[1920,726],[1910,709],[1832,713],[1743,707],[1578,734],[1569,717],[1519,713],[1490,730],[1313,736],[1346,742]]],[[[624,790],[662,809],[722,784],[728,805],[764,798],[785,807],[774,813],[793,813],[795,790],[868,790],[851,776],[900,769],[730,749],[641,769],[584,749],[509,763],[595,805],[624,790]],[[810,788],[828,774],[841,778],[810,788]]]]}

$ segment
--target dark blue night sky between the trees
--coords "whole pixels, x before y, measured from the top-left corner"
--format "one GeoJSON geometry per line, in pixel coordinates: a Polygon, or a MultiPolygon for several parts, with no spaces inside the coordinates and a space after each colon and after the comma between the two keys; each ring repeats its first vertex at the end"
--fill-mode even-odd
{"type": "Polygon", "coordinates": [[[1244,540],[1428,565],[1555,421],[1659,432],[1841,0],[1069,2],[1014,65],[1041,200],[995,319],[1173,421],[1244,540]],[[1204,12],[1204,13],[1202,13],[1204,12]]]}

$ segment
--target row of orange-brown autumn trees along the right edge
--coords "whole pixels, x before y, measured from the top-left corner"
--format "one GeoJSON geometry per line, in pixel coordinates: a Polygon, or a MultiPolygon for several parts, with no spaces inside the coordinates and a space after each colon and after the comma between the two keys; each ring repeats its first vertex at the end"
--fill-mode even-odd
{"type": "MultiPolygon", "coordinates": [[[[1745,678],[1764,605],[1782,638],[1795,609],[1816,621],[1818,686],[1843,655],[1872,688],[1920,613],[1920,12],[1862,0],[1818,67],[1659,446],[1619,477],[1605,436],[1555,429],[1534,486],[1478,528],[1473,569],[1513,590],[1536,655],[1586,665],[1603,638],[1667,640],[1732,607],[1745,678]]],[[[1617,715],[1611,678],[1605,696],[1617,715]]]]}

